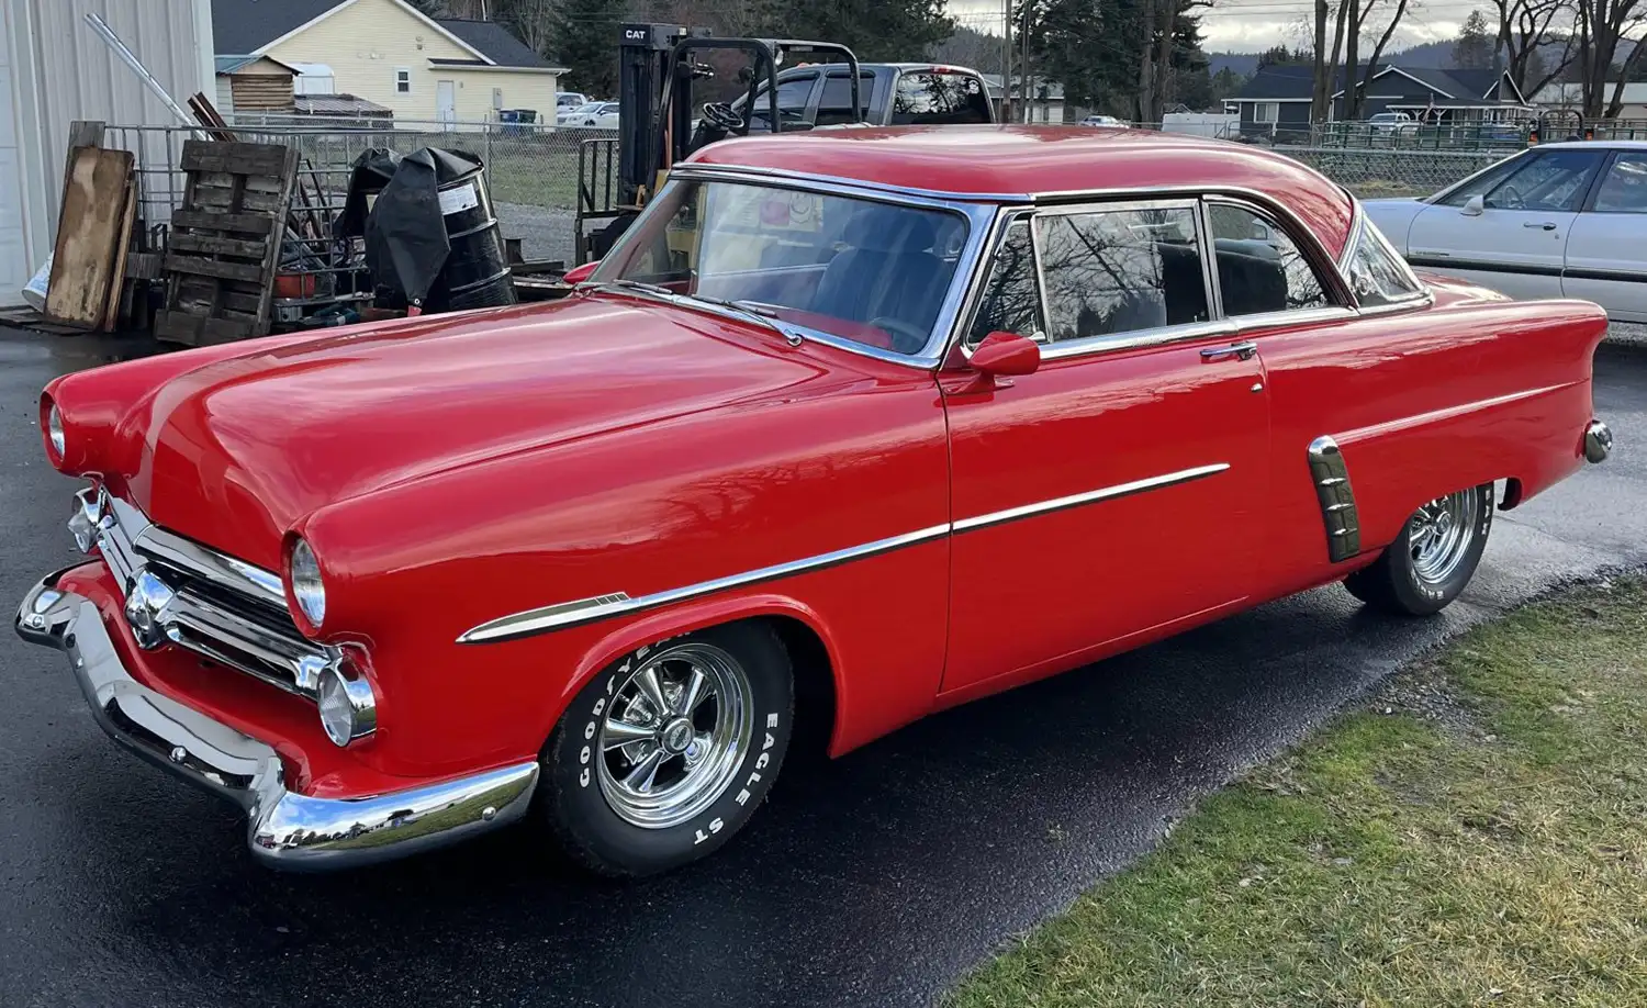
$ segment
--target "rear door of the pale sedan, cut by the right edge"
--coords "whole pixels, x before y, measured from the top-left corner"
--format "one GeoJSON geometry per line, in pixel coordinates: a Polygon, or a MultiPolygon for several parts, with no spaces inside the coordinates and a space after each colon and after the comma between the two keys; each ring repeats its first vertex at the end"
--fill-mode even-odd
{"type": "Polygon", "coordinates": [[[1603,170],[1566,240],[1561,293],[1619,321],[1647,323],[1647,150],[1621,150],[1603,170]]]}

